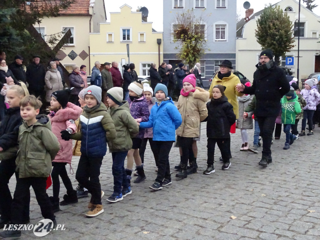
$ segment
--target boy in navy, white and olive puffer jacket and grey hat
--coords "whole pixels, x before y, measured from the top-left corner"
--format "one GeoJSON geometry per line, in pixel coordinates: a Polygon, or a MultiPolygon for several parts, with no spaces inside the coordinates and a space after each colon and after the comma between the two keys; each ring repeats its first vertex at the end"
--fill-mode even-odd
{"type": "Polygon", "coordinates": [[[76,171],[76,180],[81,186],[87,188],[91,193],[91,200],[86,216],[95,217],[103,212],[101,191],[99,181],[100,167],[103,156],[107,152],[107,141],[116,138],[116,130],[107,107],[101,102],[102,90],[92,85],[86,88],[84,101],[84,112],[80,116],[79,132],[70,134],[64,130],[61,137],[64,140],[81,140],[81,157],[76,171]],[[90,178],[90,180],[89,180],[90,178]]]}

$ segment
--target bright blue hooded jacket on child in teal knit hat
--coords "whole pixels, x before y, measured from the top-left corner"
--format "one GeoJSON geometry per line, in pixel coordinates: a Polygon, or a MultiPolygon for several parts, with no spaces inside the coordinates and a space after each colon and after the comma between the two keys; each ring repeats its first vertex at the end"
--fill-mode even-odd
{"type": "Polygon", "coordinates": [[[153,128],[154,141],[175,141],[176,129],[181,125],[181,114],[171,99],[163,100],[151,108],[149,121],[141,122],[140,128],[153,128]]]}

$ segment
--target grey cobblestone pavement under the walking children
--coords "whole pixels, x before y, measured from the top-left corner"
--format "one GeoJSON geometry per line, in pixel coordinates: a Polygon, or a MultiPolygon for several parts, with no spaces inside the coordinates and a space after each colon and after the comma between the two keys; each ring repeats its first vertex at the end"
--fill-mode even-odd
{"type": "MultiPolygon", "coordinates": [[[[179,149],[172,148],[172,185],[151,192],[148,187],[154,182],[156,172],[148,146],[147,179],[140,184],[132,183],[132,194],[114,204],[106,202],[113,191],[112,160],[108,153],[100,175],[101,188],[105,191],[104,213],[91,219],[85,217],[89,197],[79,199],[77,204],[60,206],[62,211],[55,215],[58,224],[65,224],[66,230],[51,232],[41,239],[320,239],[320,128],[316,127],[313,136],[300,137],[289,150],[283,150],[282,132],[281,139],[274,140],[272,145],[273,163],[266,168],[258,166],[260,148],[258,154],[239,151],[241,137],[237,129],[231,136],[230,168],[221,170],[218,160],[221,155],[216,151],[216,172],[203,175],[207,158],[205,129],[203,124],[198,142],[198,173],[177,180],[173,168],[180,162],[179,149]]],[[[252,143],[253,130],[248,133],[252,143]]],[[[75,172],[78,159],[73,158],[75,172]]],[[[76,188],[75,174],[70,178],[76,188]]],[[[12,191],[14,186],[12,178],[12,191]]],[[[61,182],[60,200],[65,193],[61,182]]],[[[48,194],[52,195],[52,188],[48,194]]],[[[33,190],[30,205],[30,223],[36,224],[42,216],[33,190]]],[[[35,238],[32,231],[22,234],[21,239],[35,238]]]]}

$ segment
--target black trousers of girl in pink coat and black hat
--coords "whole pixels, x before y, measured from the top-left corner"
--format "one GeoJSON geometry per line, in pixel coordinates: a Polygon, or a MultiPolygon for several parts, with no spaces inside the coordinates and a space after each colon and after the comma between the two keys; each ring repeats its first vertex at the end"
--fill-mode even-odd
{"type": "Polygon", "coordinates": [[[73,191],[71,180],[68,177],[68,173],[66,170],[66,163],[56,163],[52,162],[52,192],[54,200],[59,199],[59,192],[60,192],[60,179],[59,176],[67,189],[67,194],[73,191]]]}

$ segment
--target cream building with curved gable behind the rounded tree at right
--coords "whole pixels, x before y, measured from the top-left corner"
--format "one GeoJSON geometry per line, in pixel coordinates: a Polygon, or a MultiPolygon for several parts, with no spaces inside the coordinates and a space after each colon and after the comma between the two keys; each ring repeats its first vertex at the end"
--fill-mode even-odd
{"type": "MultiPolygon", "coordinates": [[[[282,0],[274,4],[273,7],[276,5],[288,13],[292,24],[297,27],[299,3],[295,0],[282,0]]],[[[320,72],[320,56],[317,55],[320,51],[320,43],[317,43],[319,42],[320,23],[318,21],[320,17],[303,5],[300,9],[299,82],[301,83],[301,79],[307,78],[311,73],[320,72]]],[[[237,70],[251,81],[261,52],[261,46],[255,37],[255,29],[257,28],[257,19],[262,12],[263,10],[252,14],[248,22],[242,20],[237,24],[236,66],[237,70]]],[[[297,76],[298,32],[292,31],[292,34],[295,36],[295,47],[281,58],[281,66],[286,66],[285,57],[294,57],[291,71],[293,76],[297,76]]]]}

